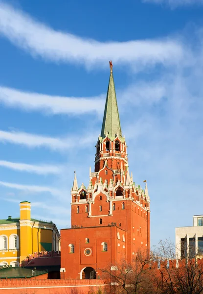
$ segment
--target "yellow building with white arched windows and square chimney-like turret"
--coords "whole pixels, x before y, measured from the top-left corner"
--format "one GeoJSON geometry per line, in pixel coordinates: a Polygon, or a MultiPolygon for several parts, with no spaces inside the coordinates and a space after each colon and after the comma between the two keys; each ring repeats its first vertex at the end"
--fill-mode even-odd
{"type": "Polygon", "coordinates": [[[31,219],[31,204],[20,202],[20,218],[0,220],[0,266],[19,266],[40,251],[59,250],[60,234],[54,223],[31,219]]]}

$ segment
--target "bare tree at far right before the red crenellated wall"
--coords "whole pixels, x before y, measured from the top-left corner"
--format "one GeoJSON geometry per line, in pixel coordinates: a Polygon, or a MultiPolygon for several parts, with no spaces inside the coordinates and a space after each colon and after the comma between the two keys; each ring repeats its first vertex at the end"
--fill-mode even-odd
{"type": "Polygon", "coordinates": [[[203,260],[197,254],[187,253],[187,258],[176,260],[175,246],[168,240],[160,241],[158,252],[152,276],[159,293],[203,294],[203,260]]]}

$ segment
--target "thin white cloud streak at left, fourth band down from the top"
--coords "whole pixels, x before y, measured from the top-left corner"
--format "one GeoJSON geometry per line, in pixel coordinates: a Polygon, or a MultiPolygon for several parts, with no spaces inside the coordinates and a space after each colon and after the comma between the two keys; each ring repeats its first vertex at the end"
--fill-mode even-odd
{"type": "Polygon", "coordinates": [[[34,172],[38,174],[58,174],[62,171],[62,167],[59,167],[57,165],[31,165],[4,160],[0,160],[0,166],[16,171],[34,172]]]}

